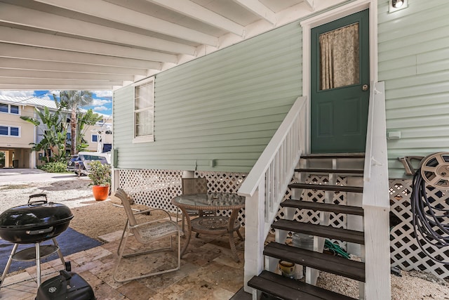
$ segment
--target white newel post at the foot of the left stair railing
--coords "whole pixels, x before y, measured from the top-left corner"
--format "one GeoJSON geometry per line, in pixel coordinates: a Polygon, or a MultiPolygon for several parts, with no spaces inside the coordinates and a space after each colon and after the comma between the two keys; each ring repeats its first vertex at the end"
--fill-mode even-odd
{"type": "Polygon", "coordinates": [[[259,275],[264,269],[264,186],[262,179],[252,197],[246,197],[245,202],[245,292],[253,294],[257,299],[257,290],[248,287],[248,281],[259,275]],[[261,192],[262,191],[262,192],[261,192]]]}

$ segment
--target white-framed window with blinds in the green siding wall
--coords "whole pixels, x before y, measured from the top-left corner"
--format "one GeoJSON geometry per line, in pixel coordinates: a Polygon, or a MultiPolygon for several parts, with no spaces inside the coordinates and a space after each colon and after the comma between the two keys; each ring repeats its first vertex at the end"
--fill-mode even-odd
{"type": "Polygon", "coordinates": [[[154,78],[134,88],[134,142],[154,141],[154,78]]]}

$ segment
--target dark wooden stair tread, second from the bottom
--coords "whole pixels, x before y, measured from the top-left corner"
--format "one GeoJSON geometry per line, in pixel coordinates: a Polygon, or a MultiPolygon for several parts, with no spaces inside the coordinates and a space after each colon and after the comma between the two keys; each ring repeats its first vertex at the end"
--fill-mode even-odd
{"type": "Polygon", "coordinates": [[[264,255],[365,282],[365,263],[361,261],[344,259],[341,256],[309,251],[277,242],[269,242],[264,248],[264,255]]]}

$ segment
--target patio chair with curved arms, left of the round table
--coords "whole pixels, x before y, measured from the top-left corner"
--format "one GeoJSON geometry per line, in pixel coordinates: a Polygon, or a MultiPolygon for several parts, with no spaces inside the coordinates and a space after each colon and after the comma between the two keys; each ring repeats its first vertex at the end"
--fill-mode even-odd
{"type": "MultiPolygon", "coordinates": [[[[116,266],[113,273],[113,278],[116,280],[116,282],[127,282],[130,280],[140,279],[140,278],[146,278],[152,275],[159,275],[163,273],[172,272],[175,270],[179,270],[181,266],[181,253],[180,253],[180,236],[181,231],[180,228],[177,226],[177,223],[175,221],[171,220],[170,214],[168,214],[168,211],[164,209],[147,209],[143,211],[133,211],[130,206],[130,202],[128,199],[128,195],[126,195],[126,192],[119,188],[114,195],[111,195],[111,197],[118,197],[121,200],[121,204],[123,205],[123,208],[125,209],[126,216],[128,219],[126,220],[126,226],[123,229],[123,233],[121,235],[121,240],[119,243],[119,248],[117,249],[117,254],[119,254],[119,259],[116,262],[116,266]],[[143,223],[138,223],[135,219],[135,215],[137,214],[148,214],[151,211],[163,211],[167,216],[167,218],[164,219],[156,219],[152,221],[147,221],[143,223]],[[163,238],[170,238],[170,247],[160,247],[160,248],[152,248],[147,249],[142,252],[131,252],[130,254],[123,254],[126,248],[126,242],[128,241],[128,237],[130,234],[133,234],[135,237],[135,240],[140,242],[141,244],[149,245],[149,244],[158,244],[159,240],[163,238]],[[117,278],[116,273],[117,270],[119,270],[119,265],[122,258],[128,258],[131,256],[139,256],[142,254],[149,254],[152,252],[159,252],[159,251],[174,251],[173,249],[173,236],[177,235],[177,266],[175,268],[170,268],[168,270],[159,270],[156,272],[149,272],[145,274],[140,274],[138,276],[134,277],[126,277],[126,278],[117,278]],[[123,244],[123,245],[122,245],[123,244]]],[[[151,265],[150,262],[148,262],[149,265],[151,265]]]]}

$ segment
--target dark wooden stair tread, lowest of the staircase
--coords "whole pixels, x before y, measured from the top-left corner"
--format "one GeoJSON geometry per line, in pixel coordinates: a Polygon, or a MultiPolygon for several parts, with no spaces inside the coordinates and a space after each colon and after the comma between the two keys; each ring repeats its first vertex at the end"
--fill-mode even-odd
{"type": "Polygon", "coordinates": [[[305,282],[283,277],[267,270],[262,270],[258,276],[254,276],[248,281],[248,286],[258,289],[267,294],[281,297],[286,300],[352,300],[349,296],[344,296],[321,287],[309,285],[305,282]]]}

